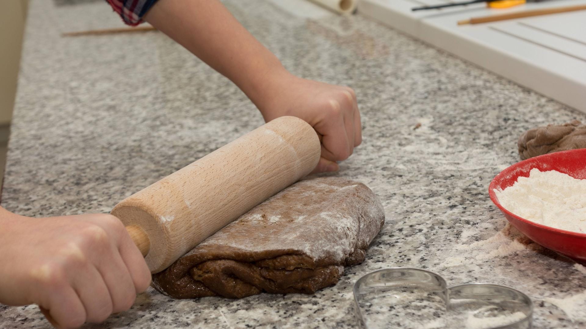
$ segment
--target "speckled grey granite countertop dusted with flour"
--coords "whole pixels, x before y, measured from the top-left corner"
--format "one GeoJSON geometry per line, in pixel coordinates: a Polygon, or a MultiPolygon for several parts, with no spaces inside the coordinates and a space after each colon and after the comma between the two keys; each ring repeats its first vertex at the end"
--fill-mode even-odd
{"type": "MultiPolygon", "coordinates": [[[[5,208],[109,212],[263,123],[234,84],[162,33],[63,38],[121,24],[103,1],[65,3],[30,4],[5,208]]],[[[488,197],[519,161],[522,131],[584,114],[360,15],[301,0],[226,5],[293,73],[356,90],[364,142],[336,175],[370,186],[387,223],[363,264],[313,296],[173,300],[149,289],[104,327],[354,327],[352,284],[397,266],[524,291],[536,328],[586,326],[586,269],[510,228],[488,197]]],[[[2,328],[49,327],[36,306],[0,310],[2,328]]]]}

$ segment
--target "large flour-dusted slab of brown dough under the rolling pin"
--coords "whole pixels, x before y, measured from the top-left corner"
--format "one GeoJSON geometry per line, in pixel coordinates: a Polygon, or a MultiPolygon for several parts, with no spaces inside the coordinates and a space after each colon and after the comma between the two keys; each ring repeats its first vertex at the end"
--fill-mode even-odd
{"type": "Polygon", "coordinates": [[[154,274],[153,284],[175,298],[311,294],[361,263],[383,223],[383,206],[364,184],[306,179],[154,274]]]}

